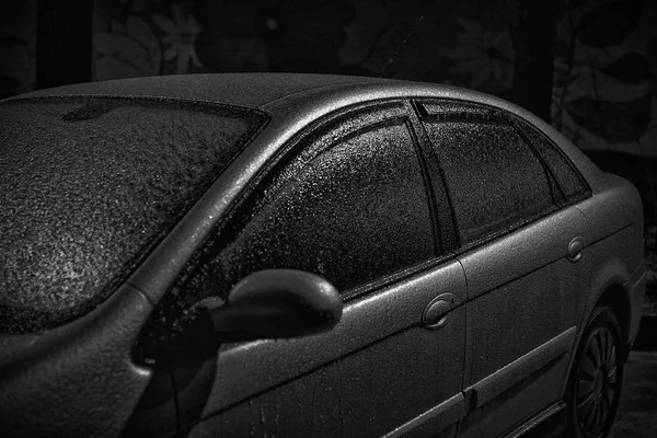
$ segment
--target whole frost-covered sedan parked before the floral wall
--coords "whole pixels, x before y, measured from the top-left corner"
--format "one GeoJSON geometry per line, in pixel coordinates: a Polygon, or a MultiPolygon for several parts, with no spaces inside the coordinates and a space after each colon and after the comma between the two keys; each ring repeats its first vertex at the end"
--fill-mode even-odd
{"type": "Polygon", "coordinates": [[[0,104],[0,435],[609,433],[636,188],[480,92],[216,73],[0,104]]]}

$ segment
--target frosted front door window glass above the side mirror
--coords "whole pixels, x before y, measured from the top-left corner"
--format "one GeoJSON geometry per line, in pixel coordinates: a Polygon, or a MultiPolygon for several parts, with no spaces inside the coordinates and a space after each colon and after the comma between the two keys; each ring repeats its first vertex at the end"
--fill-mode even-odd
{"type": "Polygon", "coordinates": [[[434,254],[427,195],[403,123],[337,142],[261,203],[185,289],[186,300],[224,298],[266,268],[315,273],[344,291],[434,254]]]}

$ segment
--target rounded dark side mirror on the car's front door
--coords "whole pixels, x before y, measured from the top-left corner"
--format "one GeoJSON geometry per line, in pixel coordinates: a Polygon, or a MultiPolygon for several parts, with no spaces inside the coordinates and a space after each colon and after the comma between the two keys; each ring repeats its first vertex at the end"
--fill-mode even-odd
{"type": "Polygon", "coordinates": [[[246,276],[222,306],[207,309],[221,342],[299,337],[326,332],[343,302],[326,279],[302,270],[268,269],[246,276]]]}

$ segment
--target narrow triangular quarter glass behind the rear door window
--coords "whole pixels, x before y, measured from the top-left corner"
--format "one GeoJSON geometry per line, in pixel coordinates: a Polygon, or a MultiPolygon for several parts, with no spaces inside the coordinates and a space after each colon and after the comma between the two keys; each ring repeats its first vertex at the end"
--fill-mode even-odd
{"type": "Polygon", "coordinates": [[[566,197],[566,201],[578,200],[586,197],[588,188],[584,184],[584,181],[552,141],[526,123],[521,123],[520,127],[527,135],[529,141],[531,141],[543,160],[545,160],[545,163],[550,166],[554,178],[566,197]]]}

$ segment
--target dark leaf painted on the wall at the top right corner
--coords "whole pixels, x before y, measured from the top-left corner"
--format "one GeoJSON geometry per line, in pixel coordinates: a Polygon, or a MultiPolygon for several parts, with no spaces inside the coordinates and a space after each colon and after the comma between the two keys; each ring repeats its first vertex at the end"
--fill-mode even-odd
{"type": "Polygon", "coordinates": [[[575,30],[577,37],[589,47],[601,48],[621,44],[636,28],[641,16],[641,0],[599,3],[596,9],[579,19],[575,30]]]}

